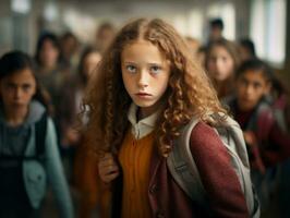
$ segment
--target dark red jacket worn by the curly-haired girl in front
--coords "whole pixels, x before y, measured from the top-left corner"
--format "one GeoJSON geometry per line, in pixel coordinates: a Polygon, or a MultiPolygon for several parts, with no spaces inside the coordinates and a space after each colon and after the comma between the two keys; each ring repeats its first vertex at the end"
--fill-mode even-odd
{"type": "MultiPolygon", "coordinates": [[[[231,167],[229,155],[216,132],[205,123],[198,123],[192,131],[191,152],[196,161],[205,190],[208,206],[202,208],[192,202],[171,177],[166,159],[152,156],[148,198],[153,217],[214,217],[246,218],[249,211],[239,179],[231,167]]],[[[120,217],[122,178],[116,181],[112,217],[120,217]]]]}

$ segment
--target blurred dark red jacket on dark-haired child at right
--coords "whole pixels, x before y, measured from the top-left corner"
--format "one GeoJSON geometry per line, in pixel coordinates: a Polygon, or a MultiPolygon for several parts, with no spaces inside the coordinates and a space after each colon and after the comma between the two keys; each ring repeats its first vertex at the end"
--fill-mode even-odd
{"type": "Polygon", "coordinates": [[[251,134],[252,143],[246,143],[253,169],[263,172],[265,167],[276,166],[290,157],[290,136],[280,129],[267,102],[261,101],[249,112],[239,110],[235,98],[229,101],[229,106],[242,130],[251,134]]]}

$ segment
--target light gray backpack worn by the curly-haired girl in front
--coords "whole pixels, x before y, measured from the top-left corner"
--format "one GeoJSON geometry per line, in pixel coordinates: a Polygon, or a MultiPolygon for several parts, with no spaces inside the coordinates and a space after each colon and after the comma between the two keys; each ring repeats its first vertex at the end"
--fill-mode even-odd
{"type": "MultiPolygon", "coordinates": [[[[213,114],[213,118],[215,116],[213,114]]],[[[167,158],[169,171],[179,186],[201,206],[207,207],[206,191],[203,186],[198,169],[190,150],[190,137],[198,119],[192,119],[181,131],[181,135],[173,142],[172,152],[167,158]]],[[[238,174],[242,191],[245,196],[246,206],[251,217],[259,217],[259,203],[253,190],[247,152],[240,125],[228,117],[219,126],[215,126],[230,157],[232,167],[238,174]]]]}

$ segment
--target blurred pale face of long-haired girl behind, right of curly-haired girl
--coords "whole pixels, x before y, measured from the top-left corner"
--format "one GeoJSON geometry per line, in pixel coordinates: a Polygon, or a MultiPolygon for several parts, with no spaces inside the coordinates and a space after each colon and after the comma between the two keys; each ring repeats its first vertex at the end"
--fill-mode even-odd
{"type": "Polygon", "coordinates": [[[222,46],[214,46],[209,51],[207,69],[210,77],[222,82],[233,74],[233,58],[222,46]]]}

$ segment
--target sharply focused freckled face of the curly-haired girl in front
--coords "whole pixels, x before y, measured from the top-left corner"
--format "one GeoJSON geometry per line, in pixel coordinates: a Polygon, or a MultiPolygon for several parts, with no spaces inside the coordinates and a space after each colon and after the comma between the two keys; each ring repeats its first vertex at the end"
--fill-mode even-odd
{"type": "Polygon", "coordinates": [[[155,112],[168,87],[170,64],[157,46],[137,40],[121,53],[122,77],[125,89],[146,117],[155,112]]]}

